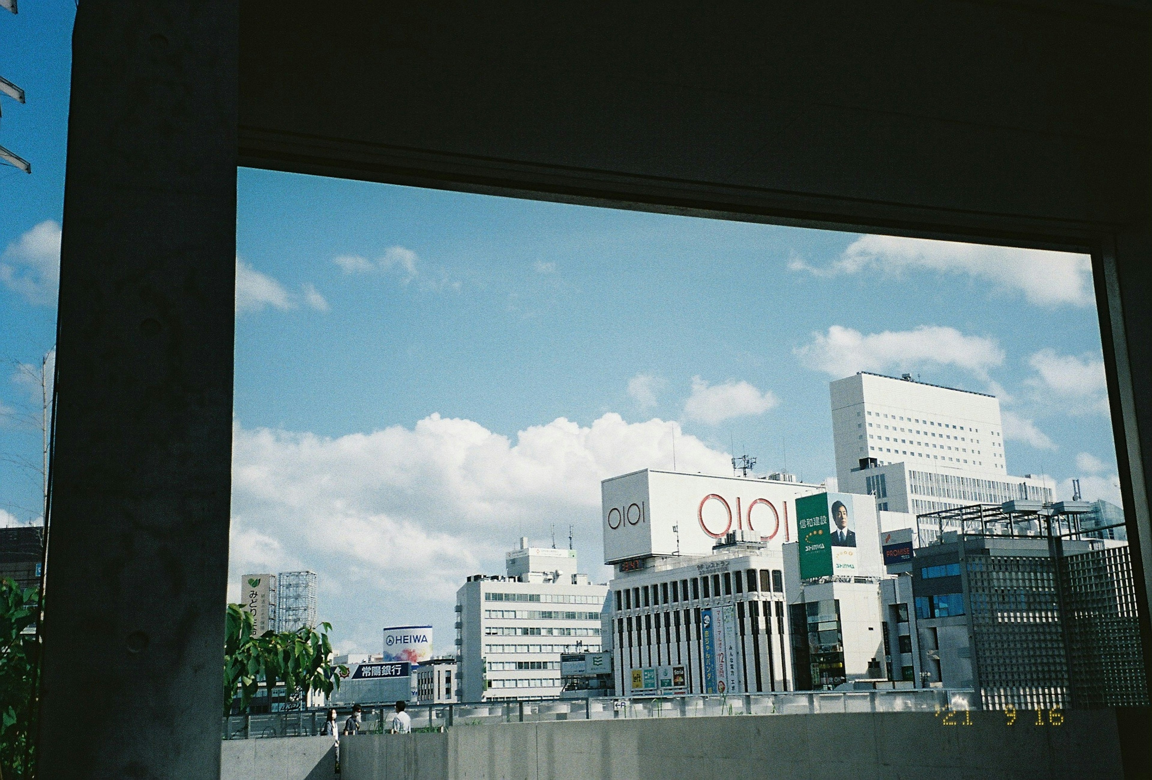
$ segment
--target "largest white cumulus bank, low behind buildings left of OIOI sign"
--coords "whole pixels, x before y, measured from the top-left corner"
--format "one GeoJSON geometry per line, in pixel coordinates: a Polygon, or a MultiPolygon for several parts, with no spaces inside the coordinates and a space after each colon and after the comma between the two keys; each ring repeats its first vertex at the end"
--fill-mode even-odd
{"type": "Polygon", "coordinates": [[[564,418],[511,439],[432,415],[412,427],[324,438],[237,425],[233,444],[232,582],[251,571],[311,568],[321,618],[374,650],[384,624],[430,620],[450,648],[464,577],[501,573],[520,536],[575,525],[582,568],[599,570],[600,480],[672,465],[730,471],[675,423],[607,414],[564,418]]]}

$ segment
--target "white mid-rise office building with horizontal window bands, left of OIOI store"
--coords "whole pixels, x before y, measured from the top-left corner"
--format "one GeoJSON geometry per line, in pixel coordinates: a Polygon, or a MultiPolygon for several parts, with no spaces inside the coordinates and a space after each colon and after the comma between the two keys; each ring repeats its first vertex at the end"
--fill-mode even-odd
{"type": "Polygon", "coordinates": [[[560,656],[600,650],[607,585],[577,570],[576,552],[520,547],[503,575],[475,575],[456,591],[456,696],[462,702],[555,698],[560,656]]]}

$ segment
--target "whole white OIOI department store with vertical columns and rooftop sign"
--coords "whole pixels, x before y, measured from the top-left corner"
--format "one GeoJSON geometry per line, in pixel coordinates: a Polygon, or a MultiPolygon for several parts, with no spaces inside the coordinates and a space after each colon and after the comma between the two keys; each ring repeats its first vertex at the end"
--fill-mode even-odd
{"type": "Polygon", "coordinates": [[[796,539],[796,498],[821,492],[654,470],[605,479],[616,695],[794,690],[782,548],[796,539]]]}

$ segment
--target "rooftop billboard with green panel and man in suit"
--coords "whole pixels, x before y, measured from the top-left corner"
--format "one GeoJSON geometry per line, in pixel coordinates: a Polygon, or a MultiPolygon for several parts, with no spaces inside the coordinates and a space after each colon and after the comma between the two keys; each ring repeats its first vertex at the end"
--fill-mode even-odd
{"type": "Polygon", "coordinates": [[[879,575],[876,499],[854,493],[797,499],[796,542],[801,580],[879,575]]]}

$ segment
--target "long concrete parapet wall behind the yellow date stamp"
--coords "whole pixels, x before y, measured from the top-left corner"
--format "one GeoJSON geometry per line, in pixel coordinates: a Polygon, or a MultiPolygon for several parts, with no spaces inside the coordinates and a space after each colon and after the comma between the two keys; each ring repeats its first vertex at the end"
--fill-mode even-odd
{"type": "MultiPolygon", "coordinates": [[[[341,743],[342,780],[1123,777],[1116,714],[745,715],[461,726],[341,743]]],[[[279,740],[278,740],[279,741],[279,740]]]]}

